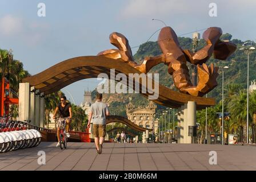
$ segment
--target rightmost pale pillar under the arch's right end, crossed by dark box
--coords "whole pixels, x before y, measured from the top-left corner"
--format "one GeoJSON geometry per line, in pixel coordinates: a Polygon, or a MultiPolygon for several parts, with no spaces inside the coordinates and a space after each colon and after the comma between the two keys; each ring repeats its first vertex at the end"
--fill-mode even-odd
{"type": "MultiPolygon", "coordinates": [[[[194,101],[189,101],[187,103],[187,128],[189,128],[189,126],[196,126],[196,122],[197,122],[197,104],[194,101]]],[[[193,143],[192,142],[192,137],[187,137],[187,140],[189,141],[189,143],[193,143]]]]}

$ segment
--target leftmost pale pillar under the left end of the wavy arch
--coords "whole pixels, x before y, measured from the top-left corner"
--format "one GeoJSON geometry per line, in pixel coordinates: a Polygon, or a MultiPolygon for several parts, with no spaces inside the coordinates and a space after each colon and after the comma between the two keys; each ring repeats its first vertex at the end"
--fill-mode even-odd
{"type": "Polygon", "coordinates": [[[19,84],[19,120],[29,119],[29,83],[19,84]]]}

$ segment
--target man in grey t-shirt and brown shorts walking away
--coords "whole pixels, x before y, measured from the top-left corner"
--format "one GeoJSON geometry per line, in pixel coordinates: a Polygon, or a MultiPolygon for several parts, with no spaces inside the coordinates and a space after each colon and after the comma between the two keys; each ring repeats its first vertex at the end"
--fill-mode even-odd
{"type": "Polygon", "coordinates": [[[106,135],[106,116],[110,115],[107,105],[102,102],[102,94],[97,93],[96,102],[91,105],[87,128],[93,122],[93,135],[98,154],[102,153],[102,144],[106,135]],[[92,119],[92,120],[91,120],[92,119]]]}

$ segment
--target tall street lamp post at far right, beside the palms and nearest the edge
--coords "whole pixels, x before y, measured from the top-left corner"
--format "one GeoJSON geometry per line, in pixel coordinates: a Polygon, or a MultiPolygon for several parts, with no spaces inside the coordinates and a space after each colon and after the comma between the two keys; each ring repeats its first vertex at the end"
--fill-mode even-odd
{"type": "Polygon", "coordinates": [[[250,51],[255,50],[255,47],[250,47],[249,43],[251,42],[246,42],[243,44],[243,46],[240,50],[242,51],[247,51],[247,114],[246,114],[246,143],[249,143],[249,53],[250,51]]]}

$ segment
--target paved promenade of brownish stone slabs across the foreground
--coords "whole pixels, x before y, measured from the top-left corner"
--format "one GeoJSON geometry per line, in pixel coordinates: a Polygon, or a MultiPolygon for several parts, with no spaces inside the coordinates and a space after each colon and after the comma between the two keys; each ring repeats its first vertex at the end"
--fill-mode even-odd
{"type": "Polygon", "coordinates": [[[0,170],[256,170],[256,147],[209,144],[105,143],[96,153],[94,143],[56,143],[0,154],[0,170]],[[38,164],[38,151],[45,151],[46,164],[38,164]],[[210,165],[210,151],[217,152],[217,165],[210,165]]]}

